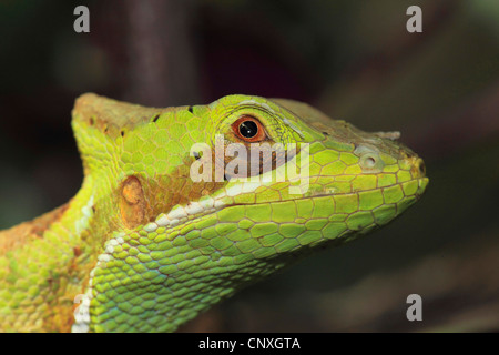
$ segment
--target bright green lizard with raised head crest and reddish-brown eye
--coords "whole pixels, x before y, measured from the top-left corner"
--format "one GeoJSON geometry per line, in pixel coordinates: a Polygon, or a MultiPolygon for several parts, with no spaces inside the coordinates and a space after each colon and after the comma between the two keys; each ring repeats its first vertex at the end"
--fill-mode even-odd
{"type": "Polygon", "coordinates": [[[397,133],[366,133],[291,100],[154,109],[84,94],[72,128],[81,190],[0,232],[3,332],[175,331],[297,256],[388,223],[428,183],[397,133]],[[218,143],[284,150],[231,159],[215,154],[218,143]],[[254,162],[252,179],[237,179],[254,162]],[[218,180],[193,175],[220,169],[218,180]]]}

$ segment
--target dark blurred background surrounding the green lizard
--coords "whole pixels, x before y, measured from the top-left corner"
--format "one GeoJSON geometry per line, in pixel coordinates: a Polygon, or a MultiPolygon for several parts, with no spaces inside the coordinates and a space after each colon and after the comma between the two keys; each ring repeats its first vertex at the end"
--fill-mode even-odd
{"type": "Polygon", "coordinates": [[[82,181],[70,129],[92,91],[145,105],[301,100],[401,131],[430,185],[400,219],[244,290],[184,332],[499,331],[499,2],[0,2],[0,229],[82,181]],[[90,33],[73,9],[90,9],[90,33]],[[422,9],[422,33],[406,10],[422,9]],[[422,297],[422,322],[406,298],[422,297]]]}

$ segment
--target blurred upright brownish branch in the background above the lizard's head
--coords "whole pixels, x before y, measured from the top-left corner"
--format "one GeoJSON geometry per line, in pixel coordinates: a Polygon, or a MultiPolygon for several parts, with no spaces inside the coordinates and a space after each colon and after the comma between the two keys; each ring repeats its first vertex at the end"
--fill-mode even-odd
{"type": "Polygon", "coordinates": [[[128,0],[130,81],[125,99],[165,106],[196,102],[191,1],[128,0]]]}

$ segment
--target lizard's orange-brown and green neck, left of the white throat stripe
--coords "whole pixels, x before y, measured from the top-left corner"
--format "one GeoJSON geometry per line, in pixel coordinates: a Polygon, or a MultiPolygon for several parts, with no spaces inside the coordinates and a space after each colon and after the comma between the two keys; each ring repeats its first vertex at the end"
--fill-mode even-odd
{"type": "Polygon", "coordinates": [[[74,298],[84,292],[110,227],[96,200],[88,176],[63,206],[0,232],[1,331],[71,329],[74,298]]]}

